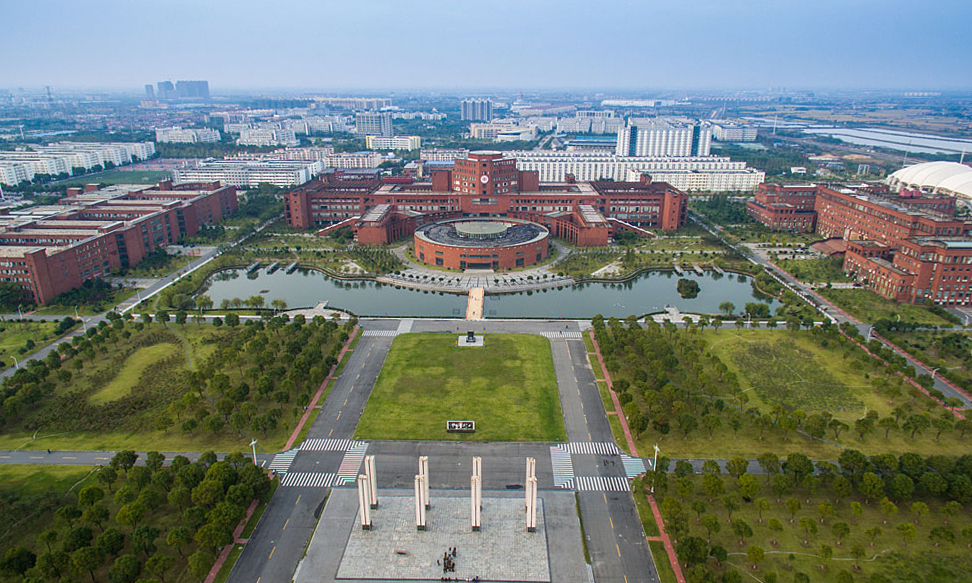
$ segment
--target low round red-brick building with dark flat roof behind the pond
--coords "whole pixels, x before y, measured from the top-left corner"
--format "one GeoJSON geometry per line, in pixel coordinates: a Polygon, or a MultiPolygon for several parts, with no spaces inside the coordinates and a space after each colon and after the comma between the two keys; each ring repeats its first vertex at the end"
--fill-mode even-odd
{"type": "Polygon", "coordinates": [[[415,230],[415,257],[448,269],[513,269],[547,258],[550,232],[518,219],[451,219],[415,230]]]}

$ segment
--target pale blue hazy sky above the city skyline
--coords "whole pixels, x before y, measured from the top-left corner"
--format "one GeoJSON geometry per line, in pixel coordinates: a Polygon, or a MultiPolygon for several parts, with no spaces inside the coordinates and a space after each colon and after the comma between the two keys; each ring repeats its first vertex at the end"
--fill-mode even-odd
{"type": "Polygon", "coordinates": [[[972,88],[972,0],[3,4],[7,88],[972,88]]]}

